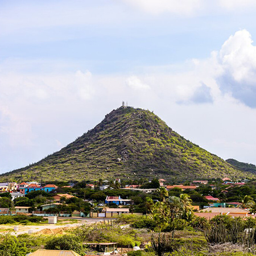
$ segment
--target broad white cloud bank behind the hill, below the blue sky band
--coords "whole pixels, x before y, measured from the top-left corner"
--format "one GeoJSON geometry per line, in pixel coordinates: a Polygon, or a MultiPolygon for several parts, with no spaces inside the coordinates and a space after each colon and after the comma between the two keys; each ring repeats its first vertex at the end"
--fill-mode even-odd
{"type": "Polygon", "coordinates": [[[59,150],[123,100],[154,110],[185,138],[222,158],[255,163],[256,138],[248,137],[256,129],[256,105],[251,101],[256,97],[255,48],[250,33],[240,30],[220,51],[208,59],[187,61],[177,73],[172,67],[169,71],[145,67],[143,73],[132,75],[86,70],[36,74],[12,68],[22,60],[14,60],[9,72],[5,63],[0,64],[0,154],[24,153],[20,162],[14,165],[10,159],[0,171],[23,167],[59,150]],[[245,126],[247,120],[250,126],[245,126]],[[242,131],[239,137],[238,131],[242,131]]]}

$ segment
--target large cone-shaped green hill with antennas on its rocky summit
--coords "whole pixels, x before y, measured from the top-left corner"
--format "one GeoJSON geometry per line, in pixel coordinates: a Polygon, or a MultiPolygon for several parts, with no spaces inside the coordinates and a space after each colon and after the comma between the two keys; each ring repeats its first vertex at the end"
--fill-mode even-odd
{"type": "Polygon", "coordinates": [[[248,174],[187,141],[154,113],[121,107],[60,151],[7,172],[0,180],[135,179],[156,175],[183,181],[248,174]]]}

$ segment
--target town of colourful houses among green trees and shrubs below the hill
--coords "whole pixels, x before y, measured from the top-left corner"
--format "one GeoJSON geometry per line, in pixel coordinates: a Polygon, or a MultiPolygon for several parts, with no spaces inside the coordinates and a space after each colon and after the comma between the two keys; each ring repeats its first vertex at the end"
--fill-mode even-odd
{"type": "Polygon", "coordinates": [[[0,234],[0,255],[254,255],[255,184],[230,177],[0,183],[0,225],[97,221],[58,228],[58,236],[0,234]]]}

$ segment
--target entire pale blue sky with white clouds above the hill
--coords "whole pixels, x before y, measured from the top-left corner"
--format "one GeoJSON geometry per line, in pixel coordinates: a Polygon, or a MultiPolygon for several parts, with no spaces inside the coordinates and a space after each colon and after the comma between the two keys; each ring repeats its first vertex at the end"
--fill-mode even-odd
{"type": "Polygon", "coordinates": [[[256,164],[255,0],[0,0],[0,173],[127,101],[256,164]]]}

